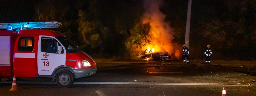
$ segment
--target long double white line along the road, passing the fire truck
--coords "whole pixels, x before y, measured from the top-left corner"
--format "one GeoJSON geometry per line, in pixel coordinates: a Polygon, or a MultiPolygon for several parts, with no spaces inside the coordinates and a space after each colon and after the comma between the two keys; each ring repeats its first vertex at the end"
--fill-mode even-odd
{"type": "MultiPolygon", "coordinates": [[[[0,82],[11,84],[12,82],[0,82]]],[[[56,82],[17,82],[17,84],[56,84],[56,82]]],[[[247,84],[219,84],[219,83],[143,83],[143,82],[74,82],[74,84],[130,84],[130,85],[204,85],[204,86],[254,86],[247,84]]]]}

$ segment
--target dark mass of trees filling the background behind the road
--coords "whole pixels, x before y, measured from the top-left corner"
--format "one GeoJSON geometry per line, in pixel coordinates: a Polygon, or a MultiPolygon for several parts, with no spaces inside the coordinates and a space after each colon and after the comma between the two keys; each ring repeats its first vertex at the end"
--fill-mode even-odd
{"type": "MultiPolygon", "coordinates": [[[[129,48],[150,43],[140,24],[141,0],[0,0],[0,22],[59,21],[64,33],[94,56],[129,57],[129,48]]],[[[185,39],[187,0],[165,0],[160,10],[174,29],[176,44],[185,39]]],[[[214,59],[254,60],[256,0],[193,0],[190,57],[204,59],[212,46],[214,59]]]]}

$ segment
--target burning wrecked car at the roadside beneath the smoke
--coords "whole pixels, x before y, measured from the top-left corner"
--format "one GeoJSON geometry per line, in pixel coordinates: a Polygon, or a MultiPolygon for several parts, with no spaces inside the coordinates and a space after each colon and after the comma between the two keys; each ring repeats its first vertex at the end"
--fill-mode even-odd
{"type": "Polygon", "coordinates": [[[155,49],[152,48],[152,50],[150,50],[150,48],[148,47],[145,51],[143,51],[140,55],[140,59],[143,60],[164,60],[164,61],[168,61],[171,60],[171,56],[168,54],[168,52],[154,52],[155,49]]]}

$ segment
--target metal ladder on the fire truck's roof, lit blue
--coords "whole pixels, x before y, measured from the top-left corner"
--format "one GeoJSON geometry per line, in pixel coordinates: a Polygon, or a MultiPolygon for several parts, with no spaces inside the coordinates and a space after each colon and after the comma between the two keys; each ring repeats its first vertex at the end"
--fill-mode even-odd
{"type": "Polygon", "coordinates": [[[12,30],[16,31],[22,29],[34,29],[34,28],[58,28],[62,25],[58,21],[52,22],[21,22],[21,23],[0,23],[0,29],[12,30]]]}

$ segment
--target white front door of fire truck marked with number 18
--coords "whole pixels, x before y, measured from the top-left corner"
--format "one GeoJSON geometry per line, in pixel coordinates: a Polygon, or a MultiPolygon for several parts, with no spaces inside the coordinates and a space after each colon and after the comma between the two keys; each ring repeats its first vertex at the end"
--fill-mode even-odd
{"type": "Polygon", "coordinates": [[[37,52],[37,70],[39,75],[52,75],[55,68],[65,65],[65,48],[55,37],[39,36],[37,52]],[[61,54],[57,53],[58,46],[62,46],[61,54]]]}

